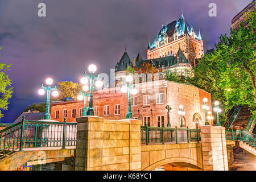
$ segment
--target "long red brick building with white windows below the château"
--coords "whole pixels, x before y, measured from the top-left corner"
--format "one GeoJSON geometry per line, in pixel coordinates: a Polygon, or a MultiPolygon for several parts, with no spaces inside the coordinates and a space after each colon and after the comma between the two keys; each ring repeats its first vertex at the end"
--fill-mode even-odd
{"type": "MultiPolygon", "coordinates": [[[[167,126],[166,105],[170,103],[171,127],[180,127],[179,105],[184,106],[185,127],[195,128],[204,125],[205,110],[202,109],[203,98],[208,98],[211,107],[210,94],[193,85],[159,80],[135,84],[138,93],[131,96],[131,111],[134,118],[142,120],[150,126],[167,126]]],[[[127,94],[120,92],[119,87],[94,91],[94,113],[105,119],[125,119],[127,113],[127,94]]],[[[89,102],[87,102],[87,107],[89,102]]],[[[51,104],[51,118],[63,122],[75,122],[82,116],[84,101],[63,101],[51,104]]],[[[213,122],[210,121],[210,125],[213,122]]]]}

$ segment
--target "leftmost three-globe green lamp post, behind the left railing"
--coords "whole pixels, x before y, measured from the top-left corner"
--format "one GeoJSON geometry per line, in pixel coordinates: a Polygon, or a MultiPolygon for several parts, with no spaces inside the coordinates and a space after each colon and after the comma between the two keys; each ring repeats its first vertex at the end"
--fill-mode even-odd
{"type": "Polygon", "coordinates": [[[52,82],[53,82],[52,78],[47,78],[47,79],[46,79],[46,84],[47,84],[48,86],[44,86],[44,85],[42,84],[41,88],[38,90],[38,93],[39,93],[40,95],[43,95],[44,93],[47,93],[47,99],[46,99],[46,114],[44,114],[44,119],[51,119],[51,115],[49,114],[49,97],[50,97],[50,95],[51,95],[51,91],[53,91],[53,92],[52,92],[52,96],[53,96],[53,97],[57,97],[57,96],[59,95],[59,92],[57,92],[56,86],[55,86],[54,88],[51,88],[50,85],[52,84],[52,82]],[[46,92],[45,92],[44,90],[46,90],[46,92]]]}

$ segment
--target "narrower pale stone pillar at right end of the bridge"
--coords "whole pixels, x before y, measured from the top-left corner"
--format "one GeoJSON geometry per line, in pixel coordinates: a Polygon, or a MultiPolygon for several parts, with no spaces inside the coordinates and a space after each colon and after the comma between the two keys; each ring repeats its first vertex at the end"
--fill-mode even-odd
{"type": "Polygon", "coordinates": [[[225,127],[200,126],[204,171],[228,171],[225,127]]]}

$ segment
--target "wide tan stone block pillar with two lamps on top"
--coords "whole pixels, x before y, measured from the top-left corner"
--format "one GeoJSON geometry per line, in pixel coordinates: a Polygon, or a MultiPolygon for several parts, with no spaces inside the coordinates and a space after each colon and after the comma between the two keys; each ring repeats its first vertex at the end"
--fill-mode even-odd
{"type": "Polygon", "coordinates": [[[141,121],[79,117],[76,171],[141,170],[141,121]]]}

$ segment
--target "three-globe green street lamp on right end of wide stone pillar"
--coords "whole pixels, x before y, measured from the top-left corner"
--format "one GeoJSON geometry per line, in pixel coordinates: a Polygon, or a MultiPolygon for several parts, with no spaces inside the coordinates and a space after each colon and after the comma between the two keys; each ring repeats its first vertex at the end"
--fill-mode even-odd
{"type": "Polygon", "coordinates": [[[131,113],[131,94],[135,95],[137,94],[137,89],[135,89],[133,85],[133,89],[131,89],[131,82],[133,82],[133,76],[128,75],[125,78],[126,83],[123,83],[123,86],[121,88],[122,93],[126,93],[128,91],[128,110],[126,114],[126,119],[133,119],[133,114],[131,113]]]}

